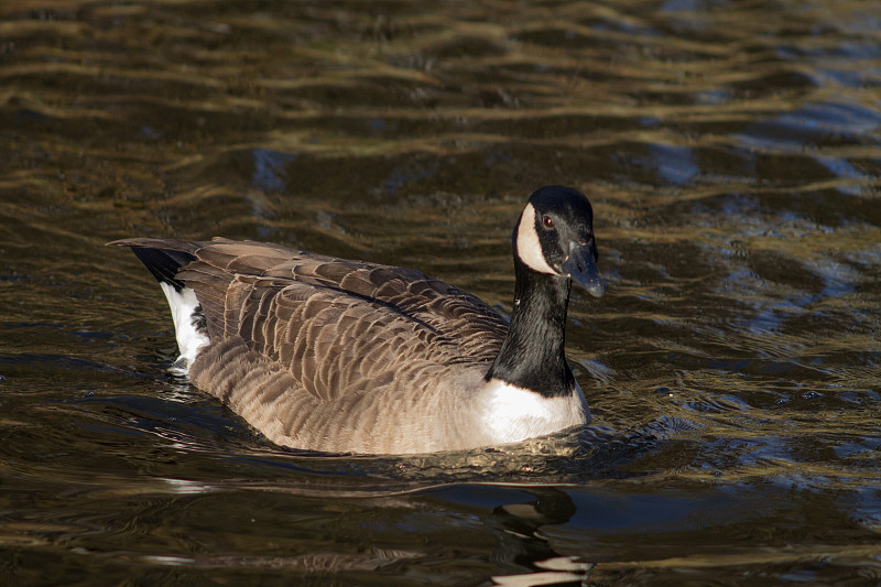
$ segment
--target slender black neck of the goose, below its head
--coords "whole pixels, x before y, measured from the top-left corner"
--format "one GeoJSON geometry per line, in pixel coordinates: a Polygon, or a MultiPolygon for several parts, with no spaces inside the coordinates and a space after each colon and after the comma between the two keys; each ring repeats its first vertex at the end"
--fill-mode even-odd
{"type": "Polygon", "coordinates": [[[501,379],[546,398],[568,395],[575,379],[564,343],[572,281],[539,273],[514,256],[514,311],[487,380],[501,379]]]}

